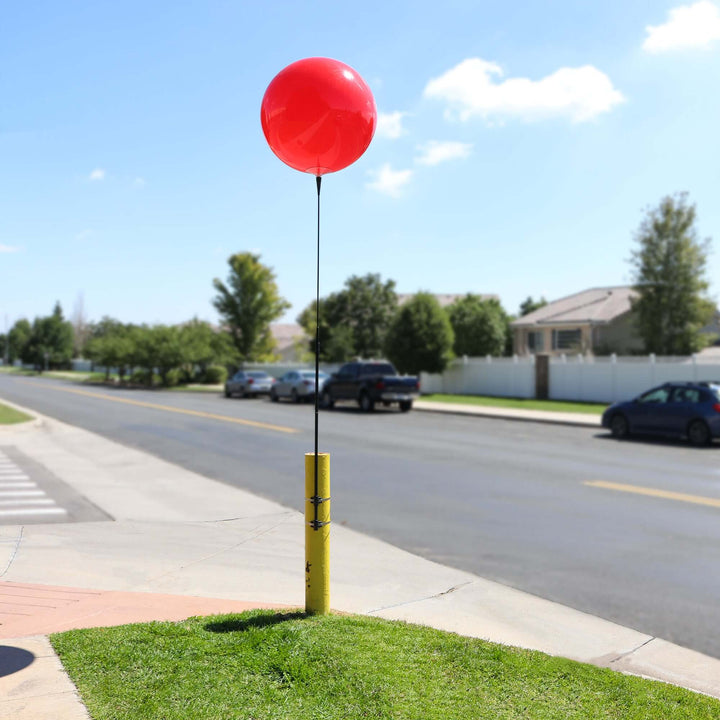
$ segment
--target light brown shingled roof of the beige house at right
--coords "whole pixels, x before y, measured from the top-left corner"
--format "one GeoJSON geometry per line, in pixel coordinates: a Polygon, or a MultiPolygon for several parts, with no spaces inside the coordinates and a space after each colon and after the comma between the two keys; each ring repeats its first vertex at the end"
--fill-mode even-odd
{"type": "Polygon", "coordinates": [[[591,288],[560,298],[518,318],[513,327],[590,323],[604,325],[630,312],[637,293],[627,286],[591,288]]]}

